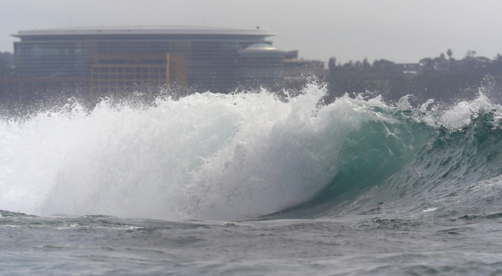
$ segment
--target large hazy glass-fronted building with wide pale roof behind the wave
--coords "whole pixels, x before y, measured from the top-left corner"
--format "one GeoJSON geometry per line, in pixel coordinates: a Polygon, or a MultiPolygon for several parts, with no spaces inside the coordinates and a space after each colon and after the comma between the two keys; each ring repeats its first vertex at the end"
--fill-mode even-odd
{"type": "MultiPolygon", "coordinates": [[[[157,74],[151,72],[143,74],[143,70],[147,68],[143,61],[148,59],[142,59],[141,56],[170,55],[184,63],[183,66],[179,66],[183,68],[183,72],[177,72],[177,76],[179,79],[184,79],[186,87],[223,92],[225,89],[235,87],[238,82],[235,78],[235,67],[239,51],[257,43],[271,45],[272,43],[265,39],[272,35],[274,33],[260,29],[165,26],[18,31],[13,35],[21,38],[21,41],[14,43],[16,77],[89,78],[92,82],[99,81],[96,85],[100,89],[113,88],[109,79],[108,85],[101,86],[101,83],[104,85],[107,80],[100,79],[101,74],[99,80],[94,78],[96,72],[93,70],[99,67],[109,67],[109,70],[113,70],[111,68],[119,70],[119,67],[123,67],[125,70],[125,65],[105,66],[101,61],[106,59],[101,57],[129,55],[131,58],[128,60],[135,60],[133,61],[135,66],[130,67],[134,67],[134,70],[136,67],[142,68],[140,79],[134,81],[145,83],[144,76],[147,76],[149,78],[147,82],[150,82],[150,77],[155,77],[157,74]]],[[[162,68],[167,70],[165,66],[159,66],[159,70],[162,68]]],[[[134,72],[134,75],[136,73],[134,72]]],[[[106,76],[105,73],[103,75],[106,76]]]]}

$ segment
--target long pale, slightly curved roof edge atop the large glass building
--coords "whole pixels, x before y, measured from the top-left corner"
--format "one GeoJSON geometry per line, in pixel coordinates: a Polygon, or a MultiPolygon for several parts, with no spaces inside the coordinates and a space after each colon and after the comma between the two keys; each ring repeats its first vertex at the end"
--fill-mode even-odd
{"type": "Polygon", "coordinates": [[[188,26],[106,26],[79,28],[52,28],[29,31],[18,31],[11,36],[29,38],[36,36],[59,35],[250,35],[267,37],[275,35],[260,29],[234,29],[188,26]]]}

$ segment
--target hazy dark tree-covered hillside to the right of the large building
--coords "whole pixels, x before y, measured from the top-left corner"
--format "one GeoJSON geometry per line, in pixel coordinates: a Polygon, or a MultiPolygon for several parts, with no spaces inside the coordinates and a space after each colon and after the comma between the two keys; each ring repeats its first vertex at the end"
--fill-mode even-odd
{"type": "Polygon", "coordinates": [[[419,70],[407,74],[389,60],[367,59],[340,64],[335,57],[328,61],[328,98],[360,93],[381,94],[384,98],[397,101],[401,96],[413,94],[414,99],[424,101],[454,101],[476,94],[481,83],[489,77],[491,82],[499,82],[502,76],[502,55],[493,59],[476,56],[469,50],[462,60],[452,57],[452,50],[446,55],[426,57],[420,60],[419,70]]]}

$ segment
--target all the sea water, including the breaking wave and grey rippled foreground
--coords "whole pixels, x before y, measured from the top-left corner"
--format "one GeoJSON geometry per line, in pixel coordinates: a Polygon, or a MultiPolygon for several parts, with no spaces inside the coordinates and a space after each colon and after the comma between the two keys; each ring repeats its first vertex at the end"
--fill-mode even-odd
{"type": "Polygon", "coordinates": [[[1,275],[502,275],[502,106],[267,91],[0,121],[1,275]]]}

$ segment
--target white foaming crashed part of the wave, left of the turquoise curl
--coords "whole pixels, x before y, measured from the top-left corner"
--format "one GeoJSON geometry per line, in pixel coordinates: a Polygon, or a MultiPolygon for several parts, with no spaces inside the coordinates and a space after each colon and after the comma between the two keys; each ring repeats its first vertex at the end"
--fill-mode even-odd
{"type": "Polygon", "coordinates": [[[3,121],[0,209],[230,220],[306,202],[336,175],[347,133],[384,119],[367,106],[389,107],[344,96],[318,109],[323,87],[304,92],[288,102],[207,92],[148,109],[103,101],[90,114],[3,121]]]}

